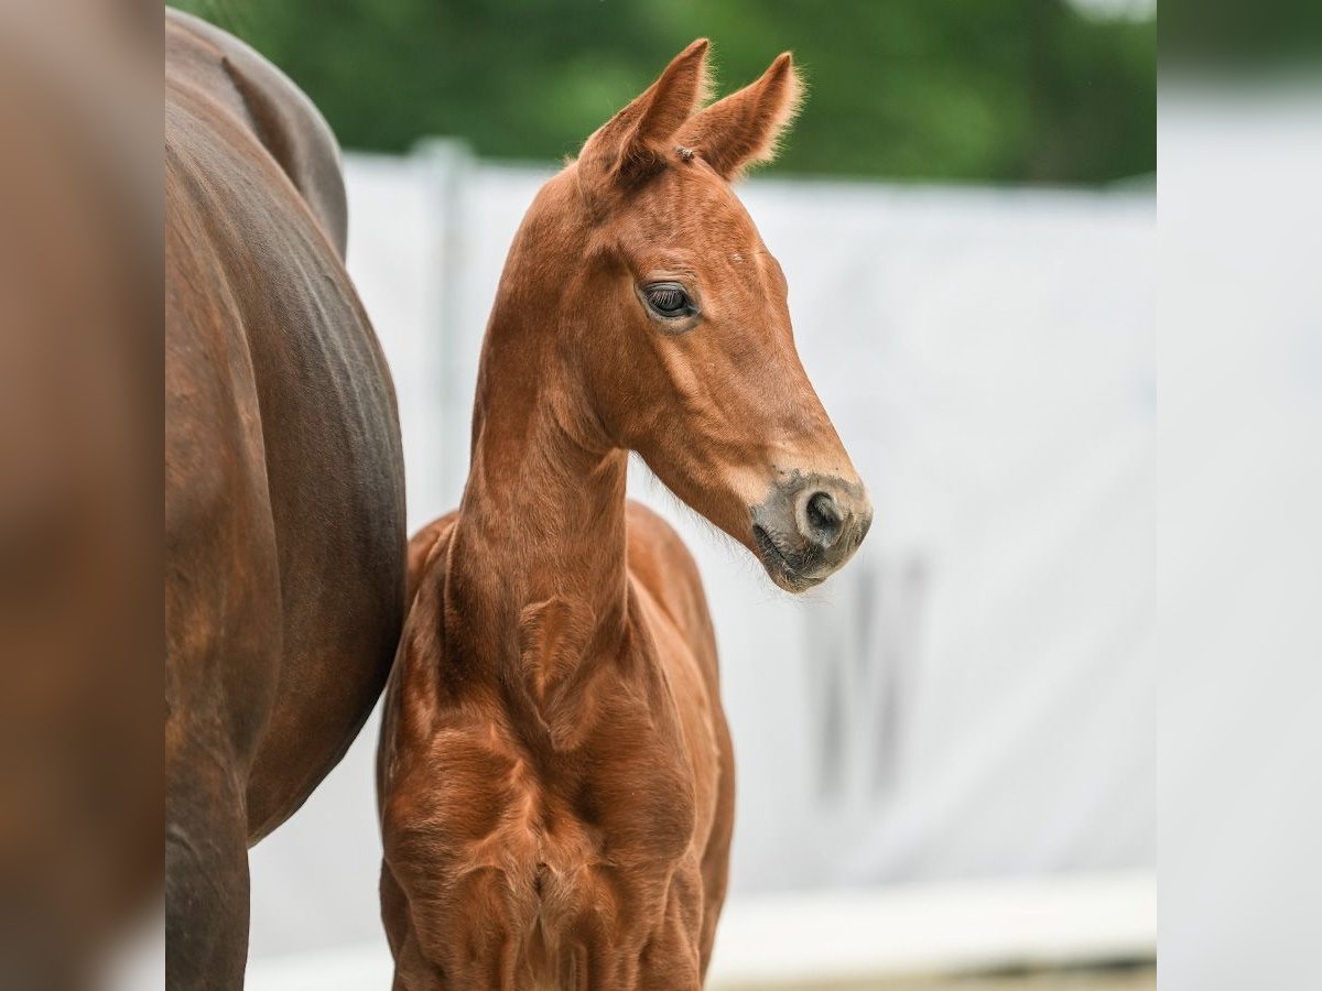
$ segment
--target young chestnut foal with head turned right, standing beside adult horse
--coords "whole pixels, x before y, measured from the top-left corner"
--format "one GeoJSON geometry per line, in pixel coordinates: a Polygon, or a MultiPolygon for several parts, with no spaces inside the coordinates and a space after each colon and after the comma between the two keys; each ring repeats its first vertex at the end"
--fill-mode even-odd
{"type": "Polygon", "coordinates": [[[463,503],[410,547],[378,757],[397,988],[702,983],[734,764],[698,571],[625,501],[628,451],[789,591],[871,521],[730,188],[793,114],[791,57],[699,110],[706,50],[534,201],[463,503]]]}

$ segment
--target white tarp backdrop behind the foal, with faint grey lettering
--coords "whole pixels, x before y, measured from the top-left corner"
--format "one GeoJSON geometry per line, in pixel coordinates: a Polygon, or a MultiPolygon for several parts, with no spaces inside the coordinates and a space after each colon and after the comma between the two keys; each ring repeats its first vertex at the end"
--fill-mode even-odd
{"type": "MultiPolygon", "coordinates": [[[[399,391],[411,527],[457,502],[488,308],[546,174],[444,144],[348,160],[349,267],[399,391]]],[[[636,462],[711,599],[735,896],[1153,867],[1151,192],[740,196],[876,522],[791,599],[636,462]]],[[[375,717],[253,851],[254,957],[382,939],[374,747],[375,717]]]]}

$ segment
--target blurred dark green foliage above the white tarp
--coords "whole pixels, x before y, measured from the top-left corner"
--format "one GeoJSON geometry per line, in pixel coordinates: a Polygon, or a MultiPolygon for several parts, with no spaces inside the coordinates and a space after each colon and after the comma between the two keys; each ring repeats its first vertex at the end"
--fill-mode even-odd
{"type": "Polygon", "coordinates": [[[724,94],[784,49],[804,115],[776,168],[1099,184],[1155,169],[1154,20],[1064,0],[184,0],[321,107],[341,143],[578,149],[695,37],[724,94]]]}

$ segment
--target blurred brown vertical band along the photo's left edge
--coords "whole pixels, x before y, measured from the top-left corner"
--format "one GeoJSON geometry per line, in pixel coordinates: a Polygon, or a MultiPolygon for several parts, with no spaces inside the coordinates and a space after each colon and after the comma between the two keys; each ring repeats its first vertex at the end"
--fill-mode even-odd
{"type": "Polygon", "coordinates": [[[4,988],[86,986],[160,887],[159,48],[139,26],[0,8],[4,988]]]}

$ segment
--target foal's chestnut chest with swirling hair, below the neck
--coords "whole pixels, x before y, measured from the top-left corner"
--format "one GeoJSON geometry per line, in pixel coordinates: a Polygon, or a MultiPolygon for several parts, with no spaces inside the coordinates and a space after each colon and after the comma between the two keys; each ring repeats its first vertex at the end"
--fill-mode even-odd
{"type": "Polygon", "coordinates": [[[598,721],[580,751],[551,758],[498,719],[434,735],[386,832],[406,888],[448,906],[438,932],[504,933],[530,966],[553,966],[567,946],[646,930],[664,912],[676,871],[695,863],[682,733],[657,733],[628,702],[598,721]]]}

